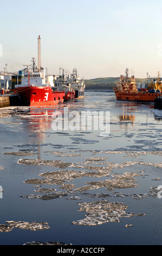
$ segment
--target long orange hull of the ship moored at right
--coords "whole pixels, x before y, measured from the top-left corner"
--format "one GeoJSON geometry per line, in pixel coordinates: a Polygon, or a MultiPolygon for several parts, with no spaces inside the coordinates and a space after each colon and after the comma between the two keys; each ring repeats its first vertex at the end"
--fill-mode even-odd
{"type": "Polygon", "coordinates": [[[116,100],[154,102],[155,97],[162,96],[160,93],[126,93],[115,92],[116,100]]]}

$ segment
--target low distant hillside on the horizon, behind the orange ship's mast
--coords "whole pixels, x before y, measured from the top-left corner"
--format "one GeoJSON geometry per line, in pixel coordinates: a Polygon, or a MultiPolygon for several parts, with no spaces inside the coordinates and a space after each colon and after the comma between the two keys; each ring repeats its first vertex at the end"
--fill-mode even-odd
{"type": "MultiPolygon", "coordinates": [[[[113,90],[113,86],[119,82],[120,77],[100,77],[85,80],[86,90],[113,90]]],[[[149,78],[148,83],[153,78],[149,78]]],[[[136,83],[147,83],[147,78],[135,78],[136,83]]]]}

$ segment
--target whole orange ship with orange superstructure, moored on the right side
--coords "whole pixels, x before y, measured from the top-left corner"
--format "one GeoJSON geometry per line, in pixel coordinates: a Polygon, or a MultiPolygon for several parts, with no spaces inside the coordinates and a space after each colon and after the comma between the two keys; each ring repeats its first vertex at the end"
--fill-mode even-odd
{"type": "Polygon", "coordinates": [[[128,77],[128,69],[126,69],[125,76],[121,75],[117,83],[117,87],[113,87],[116,100],[135,101],[135,102],[154,102],[155,97],[162,95],[160,90],[147,90],[146,92],[139,92],[135,83],[135,77],[128,77]]]}

